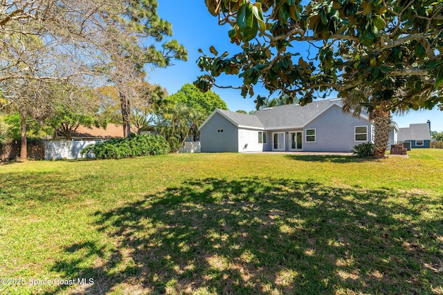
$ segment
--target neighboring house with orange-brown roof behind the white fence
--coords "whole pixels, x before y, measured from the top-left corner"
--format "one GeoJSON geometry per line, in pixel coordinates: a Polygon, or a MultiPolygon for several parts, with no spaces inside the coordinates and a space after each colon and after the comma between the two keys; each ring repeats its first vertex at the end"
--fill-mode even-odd
{"type": "MultiPolygon", "coordinates": [[[[123,137],[123,126],[117,124],[107,124],[106,129],[80,125],[72,134],[72,140],[100,141],[119,137],[123,137]]],[[[64,140],[64,137],[54,133],[53,140],[64,140]]]]}

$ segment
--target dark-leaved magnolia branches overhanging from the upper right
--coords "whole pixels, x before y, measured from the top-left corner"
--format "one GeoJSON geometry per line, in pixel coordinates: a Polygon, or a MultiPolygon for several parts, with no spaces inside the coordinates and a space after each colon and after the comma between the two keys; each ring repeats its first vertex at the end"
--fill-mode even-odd
{"type": "MultiPolygon", "coordinates": [[[[242,79],[242,95],[262,84],[269,93],[301,97],[307,104],[333,89],[359,97],[372,112],[442,106],[442,1],[206,0],[208,11],[229,23],[234,55],[214,47],[199,58],[207,91],[221,73],[242,79]],[[298,52],[300,42],[309,56],[298,52]],[[386,93],[386,91],[391,91],[386,93]],[[389,95],[388,95],[389,94],[389,95]],[[372,101],[372,99],[375,99],[372,101]]],[[[257,106],[266,102],[257,96],[257,106]]]]}

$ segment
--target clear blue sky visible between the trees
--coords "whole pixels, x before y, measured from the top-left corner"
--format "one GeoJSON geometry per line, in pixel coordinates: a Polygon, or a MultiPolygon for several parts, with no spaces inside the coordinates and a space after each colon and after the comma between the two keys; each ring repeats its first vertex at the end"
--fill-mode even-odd
{"type": "MultiPolygon", "coordinates": [[[[201,48],[209,54],[209,47],[215,46],[219,53],[239,52],[239,47],[230,44],[228,38],[229,26],[219,26],[216,17],[206,10],[203,0],[171,1],[158,0],[159,15],[172,23],[173,38],[177,39],[188,50],[187,62],[175,61],[174,66],[163,69],[155,69],[148,76],[151,83],[160,84],[168,90],[168,93],[176,93],[183,84],[192,83],[197,76],[203,73],[199,70],[196,61],[201,55],[201,48]]],[[[221,75],[217,77],[217,84],[240,86],[241,79],[236,76],[221,75]]],[[[244,99],[239,90],[213,88],[228,104],[230,111],[255,109],[254,97],[244,99]]],[[[268,96],[264,89],[255,88],[255,95],[268,96]]],[[[330,97],[333,98],[333,97],[330,97]]],[[[443,112],[435,108],[433,111],[411,111],[403,116],[394,115],[394,121],[399,127],[408,127],[409,124],[426,123],[431,120],[433,131],[443,131],[443,112]]]]}

